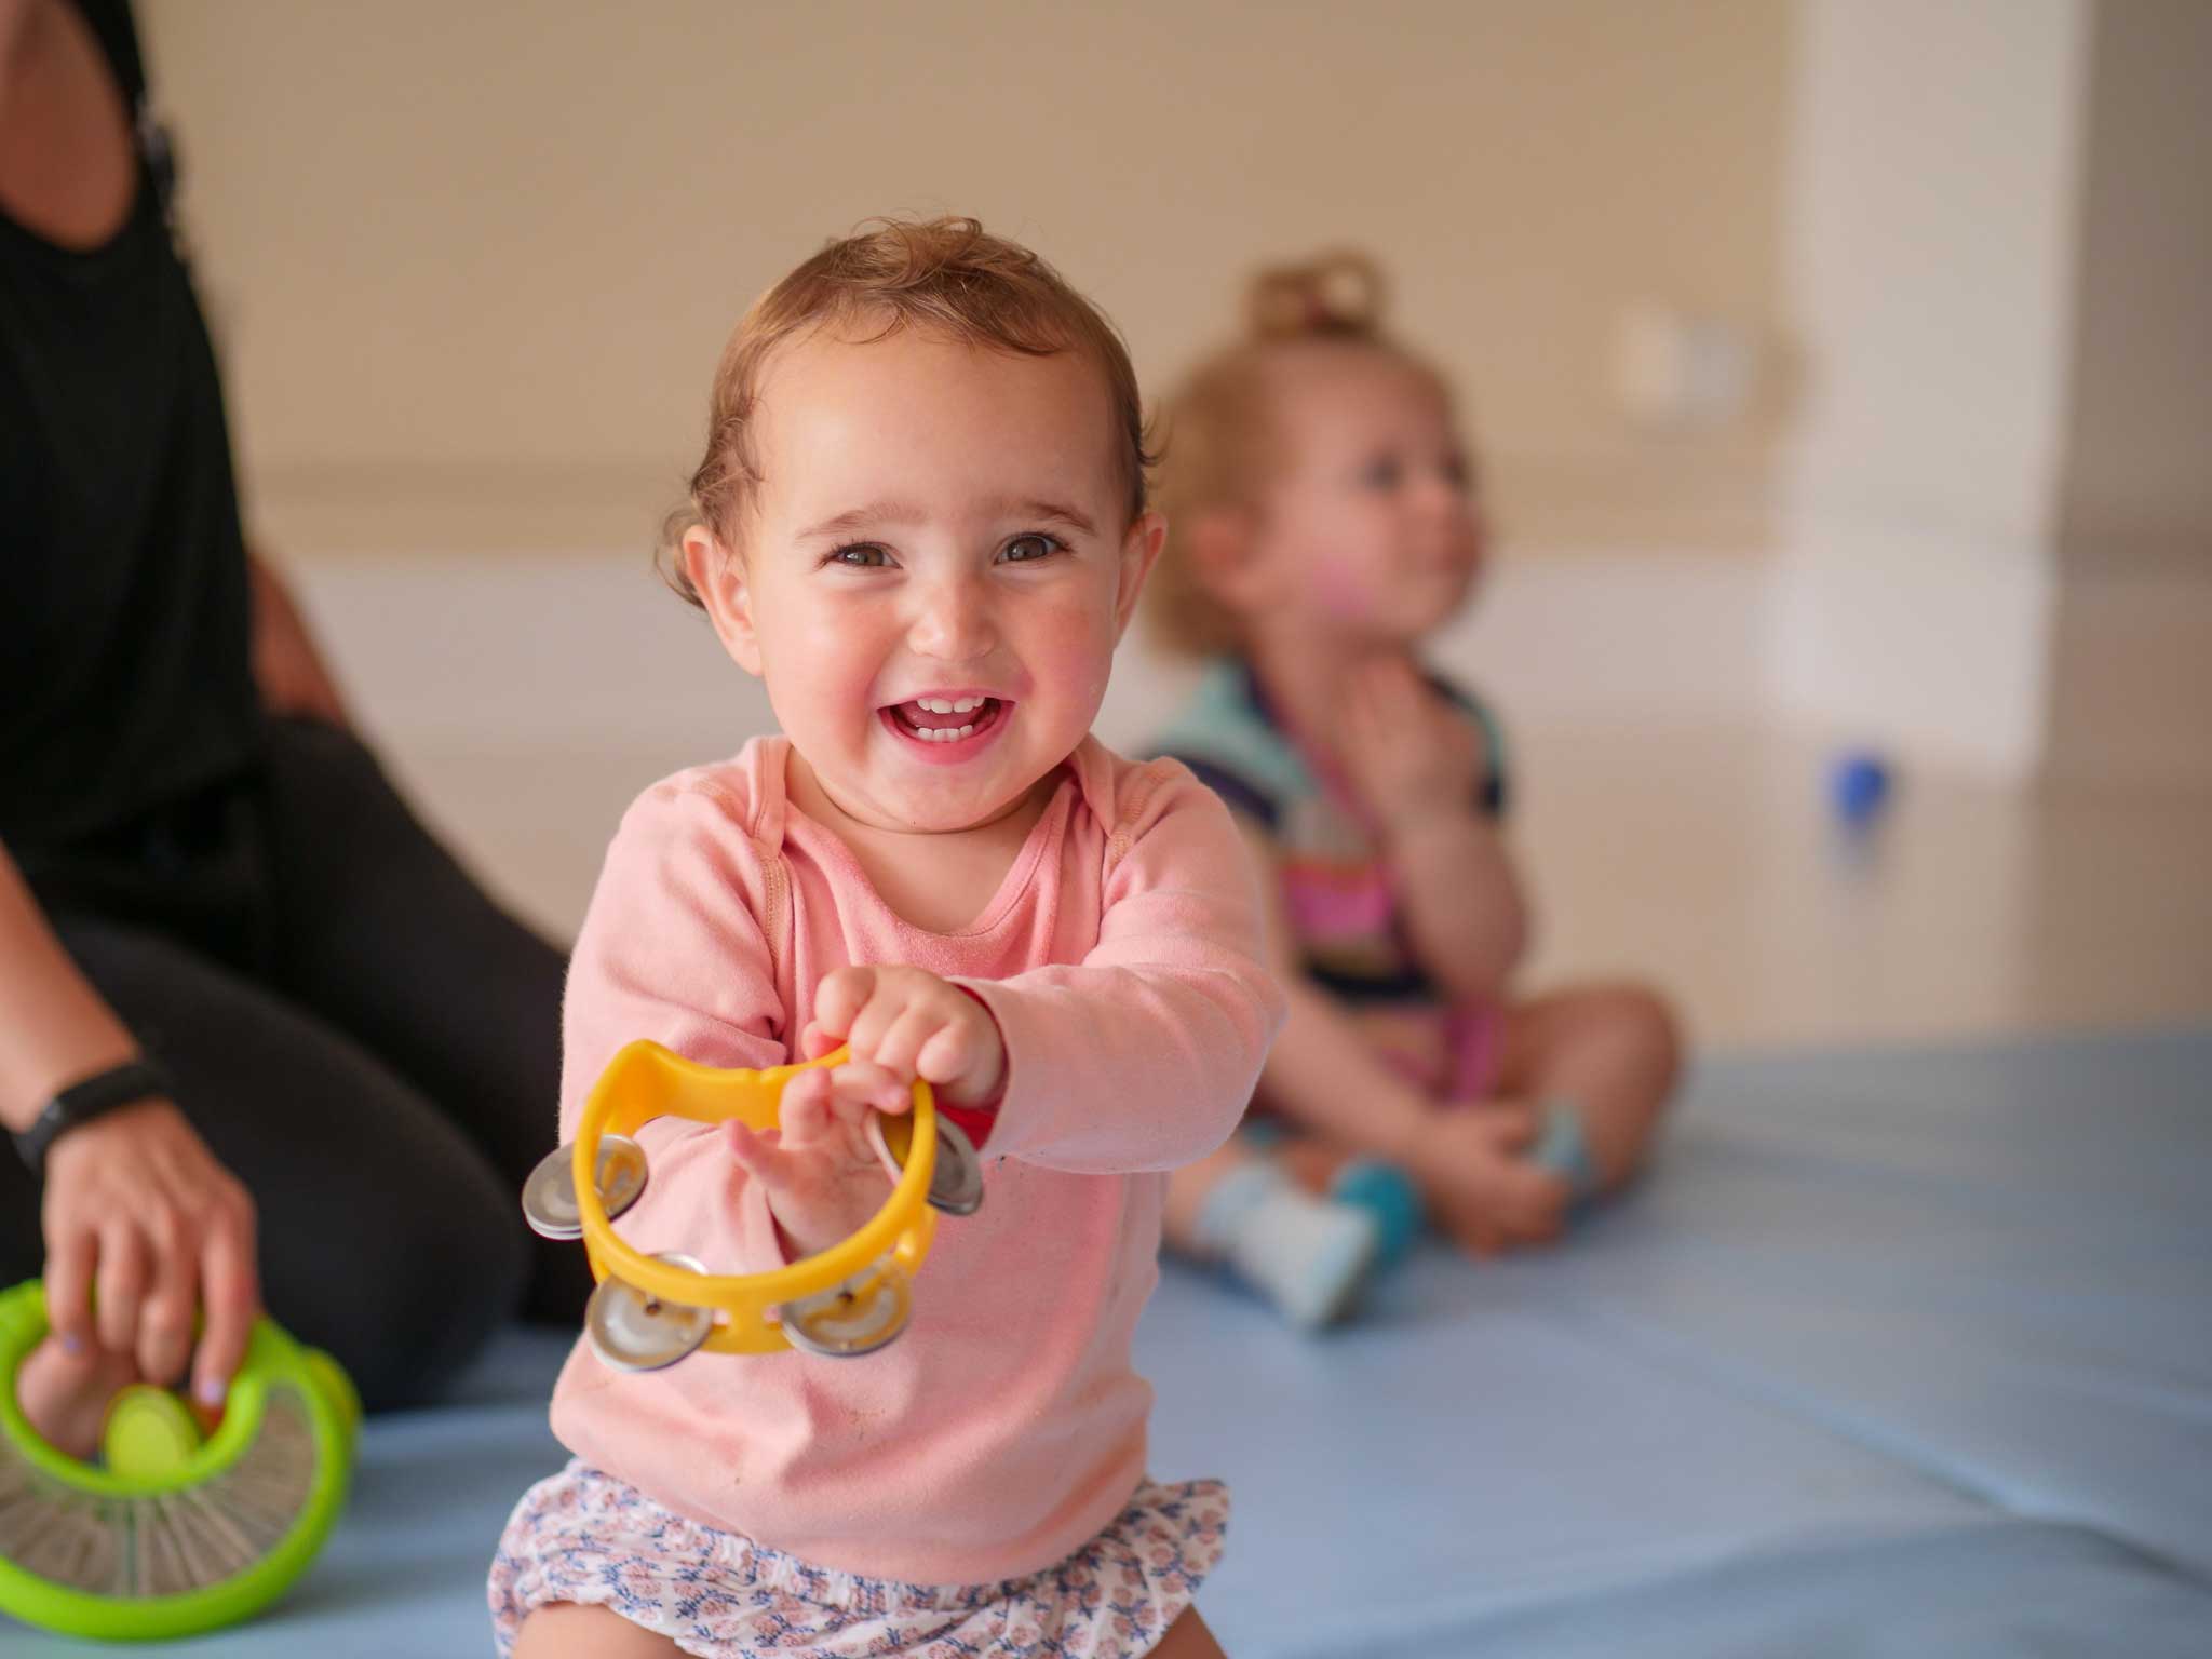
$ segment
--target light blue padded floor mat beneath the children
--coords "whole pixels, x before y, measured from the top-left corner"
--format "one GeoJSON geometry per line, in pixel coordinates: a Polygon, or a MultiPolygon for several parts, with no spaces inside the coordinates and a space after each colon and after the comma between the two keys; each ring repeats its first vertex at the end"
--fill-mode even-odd
{"type": "MultiPolygon", "coordinates": [[[[2212,1033],[1712,1060],[1548,1256],[1431,1241],[1323,1338],[1168,1267],[1152,1469],[1237,1489],[1237,1659],[2203,1655],[2208,1263],[2212,1033]]],[[[564,1347],[372,1420],[292,1597],[142,1652],[489,1655],[564,1347]]]]}

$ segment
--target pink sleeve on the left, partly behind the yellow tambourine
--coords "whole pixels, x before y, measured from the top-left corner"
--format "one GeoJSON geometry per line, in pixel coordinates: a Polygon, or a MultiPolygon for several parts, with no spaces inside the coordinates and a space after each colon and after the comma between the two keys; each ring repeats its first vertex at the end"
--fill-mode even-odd
{"type": "MultiPolygon", "coordinates": [[[[781,1066],[783,1000],[754,914],[765,891],[752,836],[728,796],[664,783],[628,810],[584,929],[562,1002],[560,1133],[626,1042],[650,1037],[708,1066],[781,1066]]],[[[686,1250],[712,1270],[783,1263],[765,1197],[714,1130],[657,1119],[639,1139],[650,1179],[622,1219],[641,1250],[686,1250]]]]}

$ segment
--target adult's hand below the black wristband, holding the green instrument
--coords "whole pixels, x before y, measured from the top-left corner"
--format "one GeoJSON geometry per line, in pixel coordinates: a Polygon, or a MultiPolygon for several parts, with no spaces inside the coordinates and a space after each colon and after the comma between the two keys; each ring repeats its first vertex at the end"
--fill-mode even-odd
{"type": "Polygon", "coordinates": [[[46,1323],[64,1347],[97,1338],[159,1385],[192,1360],[192,1396],[221,1405],[261,1307],[254,1203],[184,1113],[148,1099],[60,1135],[44,1232],[46,1323]]]}

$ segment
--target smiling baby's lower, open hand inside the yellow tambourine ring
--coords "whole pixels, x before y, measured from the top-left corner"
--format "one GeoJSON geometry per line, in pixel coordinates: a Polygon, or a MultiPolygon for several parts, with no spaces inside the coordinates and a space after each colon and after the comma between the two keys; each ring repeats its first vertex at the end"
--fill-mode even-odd
{"type": "Polygon", "coordinates": [[[889,1192],[867,1144],[872,1110],[902,1113],[914,1097],[880,1066],[803,1071],[783,1084],[779,1126],[721,1126],[730,1157],[768,1192],[785,1243],[812,1256],[852,1237],[889,1192]]]}

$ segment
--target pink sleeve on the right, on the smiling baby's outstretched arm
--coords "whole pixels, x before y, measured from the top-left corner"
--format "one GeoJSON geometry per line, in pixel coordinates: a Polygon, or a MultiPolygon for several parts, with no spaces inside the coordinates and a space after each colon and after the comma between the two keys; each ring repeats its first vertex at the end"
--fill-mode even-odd
{"type": "Polygon", "coordinates": [[[1115,836],[1099,942],[1077,967],[958,980],[1006,1040],[993,1157],[1071,1175],[1168,1170],[1237,1128],[1283,1024],[1259,885],[1228,807],[1175,761],[1115,836]]]}

